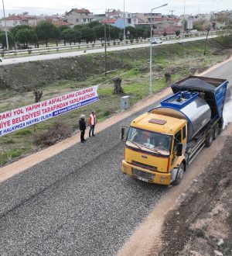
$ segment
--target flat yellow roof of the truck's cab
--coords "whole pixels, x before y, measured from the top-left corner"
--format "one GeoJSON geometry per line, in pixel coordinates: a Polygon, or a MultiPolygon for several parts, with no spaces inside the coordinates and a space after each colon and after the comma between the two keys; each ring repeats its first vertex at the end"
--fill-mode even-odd
{"type": "MultiPolygon", "coordinates": [[[[162,123],[162,122],[161,122],[162,123]]],[[[165,133],[173,135],[176,130],[179,130],[186,123],[185,119],[177,119],[171,116],[162,116],[158,114],[153,114],[152,112],[146,112],[142,116],[138,116],[131,123],[131,126],[153,131],[155,133],[165,133]],[[151,119],[159,119],[165,121],[164,124],[150,123],[151,119]]]]}

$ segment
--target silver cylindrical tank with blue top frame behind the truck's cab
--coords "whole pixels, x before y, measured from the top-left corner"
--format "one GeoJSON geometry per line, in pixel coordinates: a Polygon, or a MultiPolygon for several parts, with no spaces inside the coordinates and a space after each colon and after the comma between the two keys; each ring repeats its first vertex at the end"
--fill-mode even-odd
{"type": "Polygon", "coordinates": [[[161,102],[161,106],[152,109],[152,113],[186,119],[187,141],[191,140],[203,126],[210,122],[211,110],[198,92],[178,92],[161,102]]]}

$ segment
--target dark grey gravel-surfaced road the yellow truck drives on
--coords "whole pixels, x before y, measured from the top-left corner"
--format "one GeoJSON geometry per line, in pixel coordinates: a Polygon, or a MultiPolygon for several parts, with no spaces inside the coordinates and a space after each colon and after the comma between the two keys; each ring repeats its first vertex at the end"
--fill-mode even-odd
{"type": "MultiPolygon", "coordinates": [[[[232,61],[210,76],[232,83],[231,68],[232,61]]],[[[2,182],[0,254],[115,254],[172,189],[120,171],[120,127],[148,109],[2,182]]]]}

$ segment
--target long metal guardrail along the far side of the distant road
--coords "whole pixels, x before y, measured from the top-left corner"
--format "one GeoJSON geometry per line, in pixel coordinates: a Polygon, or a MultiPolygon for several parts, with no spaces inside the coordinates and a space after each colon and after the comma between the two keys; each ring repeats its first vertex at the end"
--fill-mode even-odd
{"type": "MultiPolygon", "coordinates": [[[[216,35],[217,33],[220,33],[220,31],[210,31],[210,35],[216,35]]],[[[198,36],[206,36],[206,32],[200,32],[200,33],[189,33],[184,34],[183,37],[198,37],[198,36]]],[[[158,37],[158,36],[157,36],[158,37]]],[[[182,35],[180,36],[159,36],[159,38],[162,41],[168,41],[168,40],[179,40],[183,38],[182,35]]],[[[150,43],[150,38],[147,39],[134,39],[134,40],[125,40],[124,41],[110,41],[107,42],[107,47],[117,47],[117,46],[125,46],[125,45],[131,45],[131,44],[141,44],[141,43],[150,43]]],[[[93,48],[104,48],[104,42],[96,42],[96,43],[80,43],[80,44],[73,44],[73,45],[59,45],[58,47],[40,47],[40,48],[32,48],[32,49],[25,49],[25,50],[13,50],[10,52],[10,56],[22,56],[22,55],[38,55],[38,54],[49,54],[49,53],[55,53],[55,52],[64,52],[64,51],[73,51],[73,50],[88,50],[93,48]]],[[[2,57],[6,55],[7,53],[2,53],[2,57]]],[[[7,57],[7,56],[5,56],[7,57]]]]}

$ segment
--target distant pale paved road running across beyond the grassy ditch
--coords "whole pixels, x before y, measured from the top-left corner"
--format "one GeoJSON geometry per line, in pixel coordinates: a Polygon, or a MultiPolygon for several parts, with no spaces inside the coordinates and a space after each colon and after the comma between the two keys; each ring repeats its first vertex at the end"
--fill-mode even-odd
{"type": "MultiPolygon", "coordinates": [[[[217,36],[209,36],[209,38],[213,38],[213,37],[217,37],[217,36]]],[[[164,41],[163,44],[181,43],[181,42],[196,41],[196,40],[203,40],[203,39],[206,39],[206,36],[164,41]]],[[[157,44],[152,45],[152,47],[157,47],[157,46],[158,46],[157,44]]],[[[122,47],[107,47],[107,51],[127,50],[127,49],[143,48],[143,47],[150,47],[150,43],[133,44],[133,45],[128,44],[122,47]]],[[[90,50],[86,50],[86,52],[84,52],[84,50],[75,50],[75,51],[59,53],[59,54],[43,54],[43,55],[35,55],[35,56],[28,56],[28,57],[12,57],[12,58],[3,59],[0,65],[18,64],[18,63],[29,62],[29,61],[56,60],[62,57],[76,57],[84,54],[96,54],[96,53],[104,53],[104,48],[90,49],[90,50]]]]}

